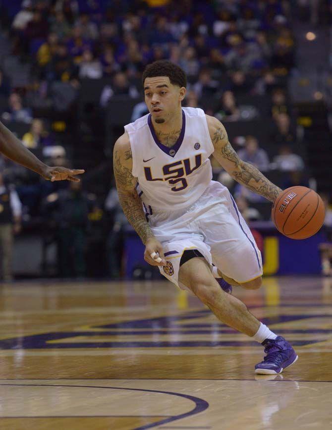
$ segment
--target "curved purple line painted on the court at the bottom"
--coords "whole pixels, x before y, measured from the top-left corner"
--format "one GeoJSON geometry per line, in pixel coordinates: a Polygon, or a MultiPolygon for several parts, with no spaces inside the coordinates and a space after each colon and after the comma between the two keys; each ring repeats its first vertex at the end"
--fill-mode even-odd
{"type": "MultiPolygon", "coordinates": [[[[209,403],[206,400],[200,399],[199,397],[190,396],[189,394],[180,394],[180,393],[174,393],[171,391],[161,391],[161,390],[147,390],[143,388],[122,388],[122,387],[101,387],[101,386],[95,386],[95,385],[62,385],[62,384],[0,384],[4,386],[37,386],[37,387],[69,387],[69,388],[106,388],[106,389],[113,389],[113,390],[126,390],[126,391],[146,391],[151,393],[162,393],[162,394],[169,394],[172,396],[177,397],[183,397],[185,399],[191,400],[195,403],[194,409],[192,409],[189,412],[185,412],[184,414],[180,415],[174,415],[170,416],[169,418],[166,418],[164,420],[157,421],[156,423],[147,424],[145,426],[136,427],[132,430],[145,430],[145,429],[152,429],[153,427],[161,426],[163,424],[171,423],[172,421],[177,421],[182,418],[186,418],[192,415],[199,414],[200,412],[205,411],[209,407],[209,403]]],[[[149,417],[149,416],[147,416],[149,417]]],[[[19,417],[12,417],[12,418],[19,418],[19,417]]],[[[34,418],[34,417],[29,417],[34,418]]],[[[42,418],[42,417],[40,417],[42,418]]],[[[43,417],[48,418],[48,417],[43,417]]],[[[73,417],[75,418],[75,417],[73,417]]],[[[77,417],[79,418],[79,417],[77,417]]],[[[93,417],[92,417],[93,418],[93,417]]],[[[144,418],[144,415],[142,416],[144,418]]]]}

